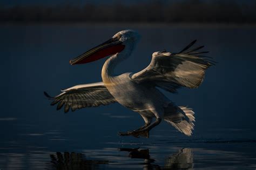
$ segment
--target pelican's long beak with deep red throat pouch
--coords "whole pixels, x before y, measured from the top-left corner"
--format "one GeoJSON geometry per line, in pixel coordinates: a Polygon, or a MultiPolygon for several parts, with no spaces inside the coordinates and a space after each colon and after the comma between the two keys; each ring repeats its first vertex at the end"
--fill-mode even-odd
{"type": "Polygon", "coordinates": [[[70,64],[84,64],[94,62],[100,58],[114,55],[124,50],[125,45],[122,44],[117,38],[111,38],[105,43],[102,43],[91,50],[83,53],[82,55],[71,59],[70,64]]]}

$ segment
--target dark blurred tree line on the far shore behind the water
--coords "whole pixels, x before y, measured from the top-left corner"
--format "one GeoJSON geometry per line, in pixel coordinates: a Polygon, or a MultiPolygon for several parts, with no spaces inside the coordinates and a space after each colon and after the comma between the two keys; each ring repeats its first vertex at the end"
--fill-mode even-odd
{"type": "Polygon", "coordinates": [[[0,6],[1,22],[255,23],[256,3],[151,1],[137,4],[0,6]]]}

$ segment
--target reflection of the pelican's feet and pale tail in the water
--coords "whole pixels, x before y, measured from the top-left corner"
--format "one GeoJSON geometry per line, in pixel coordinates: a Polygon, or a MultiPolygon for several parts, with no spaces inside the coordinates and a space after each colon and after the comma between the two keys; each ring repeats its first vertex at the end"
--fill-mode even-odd
{"type": "Polygon", "coordinates": [[[190,148],[180,149],[167,157],[164,167],[153,164],[154,159],[150,157],[149,149],[139,148],[120,148],[120,151],[129,152],[129,157],[132,159],[144,159],[143,169],[189,169],[193,168],[193,153],[190,148]]]}

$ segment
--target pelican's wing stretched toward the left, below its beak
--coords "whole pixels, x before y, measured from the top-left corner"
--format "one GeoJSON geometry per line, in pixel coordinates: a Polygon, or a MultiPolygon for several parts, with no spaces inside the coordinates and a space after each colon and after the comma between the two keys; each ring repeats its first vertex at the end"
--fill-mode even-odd
{"type": "Polygon", "coordinates": [[[51,105],[58,103],[57,110],[64,106],[65,113],[70,107],[72,111],[75,111],[84,107],[96,107],[116,102],[103,82],[73,86],[62,90],[62,93],[55,97],[50,97],[46,92],[44,94],[53,100],[51,105]]]}

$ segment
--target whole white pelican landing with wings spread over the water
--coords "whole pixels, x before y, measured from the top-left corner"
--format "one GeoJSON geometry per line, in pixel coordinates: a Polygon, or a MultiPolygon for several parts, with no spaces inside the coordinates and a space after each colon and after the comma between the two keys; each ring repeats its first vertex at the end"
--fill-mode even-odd
{"type": "Polygon", "coordinates": [[[62,90],[55,97],[44,92],[53,100],[51,105],[58,104],[57,110],[64,106],[64,112],[68,112],[70,108],[75,111],[119,103],[138,112],[145,121],[137,130],[119,132],[119,135],[149,138],[149,131],[165,120],[190,136],[194,128],[194,112],[191,108],[177,106],[158,88],[171,93],[176,93],[179,87],[197,88],[204,79],[205,71],[214,62],[201,55],[207,51],[198,51],[204,46],[191,49],[196,43],[194,40],[178,53],[166,50],[154,52],[151,63],[142,71],[115,74],[116,66],[131,55],[139,39],[138,32],[123,30],[103,44],[71,59],[70,64],[75,65],[110,56],[102,67],[102,82],[76,85],[62,90]]]}

